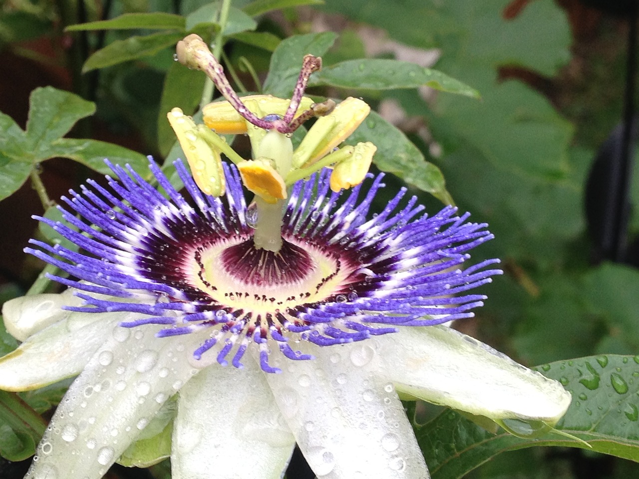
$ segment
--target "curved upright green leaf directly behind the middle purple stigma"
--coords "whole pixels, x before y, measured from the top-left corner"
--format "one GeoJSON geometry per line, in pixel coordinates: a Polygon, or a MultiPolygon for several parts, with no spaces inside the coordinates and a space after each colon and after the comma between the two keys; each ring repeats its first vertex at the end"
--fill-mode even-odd
{"type": "Polygon", "coordinates": [[[304,56],[325,54],[336,38],[337,35],[333,32],[323,32],[296,35],[282,40],[271,56],[263,91],[280,98],[291,96],[304,56]]]}

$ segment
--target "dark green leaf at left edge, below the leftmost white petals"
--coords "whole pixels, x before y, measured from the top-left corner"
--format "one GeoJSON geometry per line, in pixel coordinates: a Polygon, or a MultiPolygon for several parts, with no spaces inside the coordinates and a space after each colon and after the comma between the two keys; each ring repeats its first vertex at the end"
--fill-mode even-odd
{"type": "Polygon", "coordinates": [[[0,390],[0,455],[12,461],[27,459],[46,427],[17,394],[0,390]]]}

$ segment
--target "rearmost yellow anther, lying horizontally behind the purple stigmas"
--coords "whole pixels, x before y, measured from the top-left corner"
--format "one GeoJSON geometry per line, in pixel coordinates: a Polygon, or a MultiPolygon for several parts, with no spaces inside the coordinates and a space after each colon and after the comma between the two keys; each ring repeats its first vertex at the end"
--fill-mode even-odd
{"type": "MultiPolygon", "coordinates": [[[[284,116],[291,100],[272,95],[250,95],[242,98],[242,103],[258,118],[268,114],[284,116]]],[[[311,98],[302,98],[295,118],[311,107],[311,98]]],[[[231,106],[229,102],[209,103],[202,109],[204,124],[220,135],[239,135],[248,131],[248,122],[231,106]]]]}

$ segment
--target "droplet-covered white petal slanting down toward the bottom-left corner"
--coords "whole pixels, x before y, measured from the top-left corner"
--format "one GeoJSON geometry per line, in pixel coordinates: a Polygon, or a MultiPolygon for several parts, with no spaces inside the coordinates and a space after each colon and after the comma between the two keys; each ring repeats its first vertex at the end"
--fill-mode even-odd
{"type": "Polygon", "coordinates": [[[201,336],[156,338],[158,329],[112,328],[59,404],[26,479],[101,478],[197,371],[189,356],[201,336]]]}

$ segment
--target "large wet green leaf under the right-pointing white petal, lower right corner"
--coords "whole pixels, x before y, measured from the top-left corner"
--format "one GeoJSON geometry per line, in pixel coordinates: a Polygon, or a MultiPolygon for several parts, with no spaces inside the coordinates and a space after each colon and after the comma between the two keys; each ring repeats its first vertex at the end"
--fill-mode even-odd
{"type": "Polygon", "coordinates": [[[495,455],[530,446],[569,446],[639,461],[639,356],[589,356],[539,368],[573,395],[555,429],[522,439],[504,430],[491,434],[450,409],[417,430],[433,479],[461,478],[495,455]]]}

